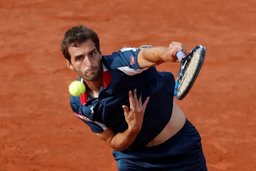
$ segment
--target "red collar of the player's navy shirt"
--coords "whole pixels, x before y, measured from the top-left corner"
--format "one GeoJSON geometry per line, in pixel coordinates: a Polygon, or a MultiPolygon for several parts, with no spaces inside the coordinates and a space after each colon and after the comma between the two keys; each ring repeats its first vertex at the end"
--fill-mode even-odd
{"type": "MultiPolygon", "coordinates": [[[[102,68],[103,68],[103,75],[102,75],[102,85],[104,89],[108,87],[108,84],[111,82],[111,74],[108,68],[102,63],[102,68]]],[[[85,84],[84,80],[81,78],[81,82],[85,84]]],[[[85,103],[88,101],[88,96],[86,91],[80,96],[80,101],[82,105],[85,105],[85,103]]]]}

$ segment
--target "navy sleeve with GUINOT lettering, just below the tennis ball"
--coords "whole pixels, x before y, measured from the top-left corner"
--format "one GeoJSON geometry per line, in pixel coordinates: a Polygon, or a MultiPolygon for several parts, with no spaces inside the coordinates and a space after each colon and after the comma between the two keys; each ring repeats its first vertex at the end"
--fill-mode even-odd
{"type": "Polygon", "coordinates": [[[70,105],[72,111],[74,112],[74,115],[81,119],[84,123],[86,123],[86,125],[88,125],[94,133],[102,133],[104,130],[106,130],[107,127],[103,123],[100,123],[98,121],[91,121],[88,117],[84,115],[84,113],[81,112],[80,105],[78,103],[80,101],[78,99],[79,97],[70,97],[70,105]]]}

